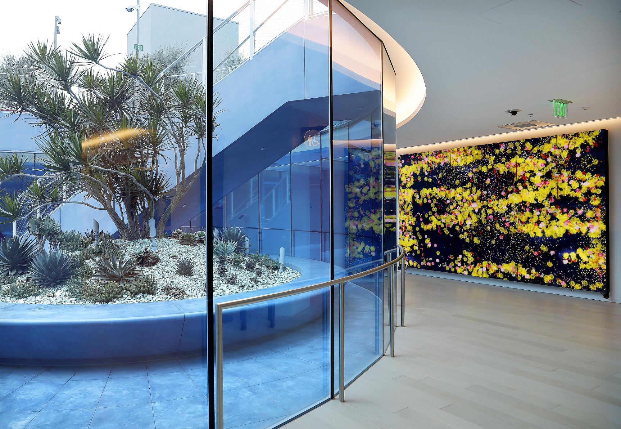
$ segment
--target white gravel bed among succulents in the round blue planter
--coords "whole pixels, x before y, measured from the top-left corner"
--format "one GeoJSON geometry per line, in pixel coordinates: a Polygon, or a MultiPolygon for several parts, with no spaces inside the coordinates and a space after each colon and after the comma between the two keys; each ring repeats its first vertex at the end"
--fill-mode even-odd
{"type": "MultiPolygon", "coordinates": [[[[128,255],[138,254],[145,248],[151,249],[150,239],[135,241],[115,240],[115,242],[122,245],[122,247],[125,248],[125,253],[128,255]]],[[[140,267],[140,270],[142,270],[145,275],[152,275],[155,277],[158,293],[150,295],[138,294],[133,297],[126,294],[120,299],[114,299],[111,301],[111,304],[173,301],[176,299],[201,298],[202,296],[206,296],[206,245],[183,245],[179,244],[176,240],[165,238],[156,239],[155,242],[158,249],[156,250],[156,254],[160,258],[160,262],[153,265],[153,267],[140,267]],[[182,276],[176,273],[176,261],[179,259],[191,259],[194,261],[194,275],[182,276]],[[178,296],[165,294],[162,290],[169,287],[181,288],[185,296],[179,298],[178,296]]],[[[93,268],[96,266],[93,260],[88,260],[86,263],[93,268]]],[[[245,266],[245,260],[243,261],[243,265],[245,266]]],[[[219,262],[214,259],[214,270],[217,270],[218,267],[219,262]]],[[[231,275],[237,276],[237,283],[235,285],[229,285],[225,278],[219,276],[217,272],[214,273],[214,296],[282,285],[283,283],[288,283],[301,276],[301,273],[292,268],[286,268],[283,272],[274,272],[263,267],[263,273],[259,276],[258,283],[255,284],[253,281],[255,277],[254,272],[249,272],[242,267],[233,267],[230,263],[225,264],[225,267],[227,268],[226,277],[231,275]]],[[[25,278],[25,276],[20,276],[18,281],[25,280],[25,278]]],[[[93,279],[93,281],[95,280],[93,279]]],[[[9,285],[0,287],[8,288],[9,285]]],[[[65,286],[49,288],[47,292],[47,294],[43,293],[40,296],[31,296],[30,298],[22,299],[0,296],[0,302],[24,304],[94,304],[92,301],[70,298],[65,286]]]]}

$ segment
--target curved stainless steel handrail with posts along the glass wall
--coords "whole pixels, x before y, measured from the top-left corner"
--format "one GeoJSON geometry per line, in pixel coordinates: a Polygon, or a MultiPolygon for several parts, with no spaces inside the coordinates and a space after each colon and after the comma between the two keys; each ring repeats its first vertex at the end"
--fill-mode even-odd
{"type": "MultiPolygon", "coordinates": [[[[224,429],[224,404],[223,404],[223,396],[224,396],[224,384],[223,384],[223,373],[224,373],[224,363],[222,361],[222,356],[224,355],[224,346],[222,344],[222,313],[225,309],[247,306],[250,304],[258,304],[263,303],[265,301],[271,301],[272,299],[278,298],[286,298],[288,296],[299,295],[302,293],[312,292],[324,288],[329,288],[330,286],[340,285],[340,299],[339,299],[339,307],[340,307],[340,327],[338,333],[338,342],[339,342],[339,371],[338,371],[338,400],[343,402],[345,400],[345,283],[348,281],[357,280],[358,278],[362,278],[368,276],[369,274],[381,272],[388,268],[390,274],[389,280],[389,299],[390,299],[390,343],[391,343],[391,356],[394,356],[394,307],[396,303],[395,294],[393,293],[393,281],[392,281],[392,267],[396,265],[398,262],[403,262],[404,258],[404,250],[401,245],[397,245],[397,257],[396,259],[390,260],[379,267],[369,268],[369,270],[355,273],[349,276],[337,278],[335,280],[323,281],[322,283],[317,283],[315,285],[302,286],[300,288],[291,289],[288,291],[279,291],[273,293],[266,293],[264,295],[259,296],[250,296],[248,298],[240,298],[233,299],[232,301],[225,301],[224,303],[215,304],[215,400],[216,400],[216,427],[218,429],[224,429]]],[[[392,250],[394,251],[394,250],[392,250]]],[[[403,267],[404,265],[402,265],[403,267]]],[[[405,276],[403,273],[405,270],[402,269],[402,289],[405,288],[405,276]]],[[[404,294],[402,293],[402,297],[404,294]]],[[[404,301],[402,301],[401,306],[404,305],[404,301]]]]}

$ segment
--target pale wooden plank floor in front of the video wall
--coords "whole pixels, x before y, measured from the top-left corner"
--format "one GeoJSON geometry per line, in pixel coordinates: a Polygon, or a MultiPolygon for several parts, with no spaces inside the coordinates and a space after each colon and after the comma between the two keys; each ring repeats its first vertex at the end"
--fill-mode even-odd
{"type": "Polygon", "coordinates": [[[286,428],[621,428],[621,304],[407,275],[384,357],[286,428]]]}

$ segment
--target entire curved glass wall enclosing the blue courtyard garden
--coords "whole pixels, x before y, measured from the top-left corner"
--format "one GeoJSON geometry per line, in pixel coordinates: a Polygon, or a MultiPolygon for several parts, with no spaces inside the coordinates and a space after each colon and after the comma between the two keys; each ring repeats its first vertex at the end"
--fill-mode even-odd
{"type": "Polygon", "coordinates": [[[392,238],[381,41],[337,1],[206,4],[0,56],[2,427],[274,427],[383,354],[382,273],[287,293],[392,238]]]}

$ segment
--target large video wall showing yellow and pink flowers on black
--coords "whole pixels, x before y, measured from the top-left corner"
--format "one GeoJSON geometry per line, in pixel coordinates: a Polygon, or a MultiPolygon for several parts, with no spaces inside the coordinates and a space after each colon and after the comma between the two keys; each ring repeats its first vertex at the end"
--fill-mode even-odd
{"type": "Polygon", "coordinates": [[[401,155],[407,265],[607,296],[607,168],[606,130],[401,155]]]}

